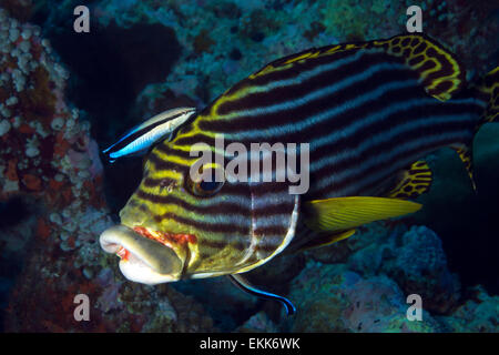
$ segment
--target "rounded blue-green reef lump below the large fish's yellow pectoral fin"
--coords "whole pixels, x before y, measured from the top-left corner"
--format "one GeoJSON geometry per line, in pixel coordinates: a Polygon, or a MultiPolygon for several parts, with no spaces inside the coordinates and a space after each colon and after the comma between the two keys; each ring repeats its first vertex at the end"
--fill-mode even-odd
{"type": "Polygon", "coordinates": [[[301,305],[288,321],[292,332],[437,332],[426,312],[424,322],[408,321],[398,285],[385,275],[363,278],[345,264],[309,262],[293,282],[289,297],[301,305]]]}

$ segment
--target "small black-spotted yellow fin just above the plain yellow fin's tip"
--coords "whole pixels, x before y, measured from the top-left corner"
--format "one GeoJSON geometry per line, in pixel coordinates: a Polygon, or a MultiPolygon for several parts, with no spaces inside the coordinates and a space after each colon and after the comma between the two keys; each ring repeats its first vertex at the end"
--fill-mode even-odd
{"type": "Polygon", "coordinates": [[[415,199],[428,192],[432,181],[432,173],[428,163],[419,160],[400,172],[397,185],[386,195],[390,199],[415,199]]]}

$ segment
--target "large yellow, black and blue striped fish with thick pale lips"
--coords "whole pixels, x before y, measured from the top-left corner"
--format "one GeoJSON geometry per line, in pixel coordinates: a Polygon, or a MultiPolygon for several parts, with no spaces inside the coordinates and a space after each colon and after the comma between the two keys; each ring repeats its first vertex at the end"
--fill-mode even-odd
{"type": "MultiPolygon", "coordinates": [[[[499,67],[468,83],[456,55],[425,34],[278,59],[152,144],[121,224],[104,231],[100,245],[121,257],[133,282],[225,275],[293,314],[289,300],[243,275],[279,254],[337,243],[360,225],[418,211],[413,200],[432,181],[424,158],[440,148],[457,152],[472,181],[473,136],[497,119],[498,87],[499,67]],[[308,172],[308,190],[289,193],[291,179],[213,179],[236,160],[216,145],[221,135],[243,146],[308,144],[296,155],[308,154],[309,164],[298,166],[308,172]],[[215,163],[196,165],[202,175],[193,178],[198,143],[215,163]]],[[[282,169],[272,165],[271,176],[282,169]]]]}

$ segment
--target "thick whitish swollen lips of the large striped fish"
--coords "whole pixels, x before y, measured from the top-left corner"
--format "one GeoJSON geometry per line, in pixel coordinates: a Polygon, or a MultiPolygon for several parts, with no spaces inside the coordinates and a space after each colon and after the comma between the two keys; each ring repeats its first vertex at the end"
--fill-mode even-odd
{"type": "Polygon", "coordinates": [[[183,262],[175,251],[131,227],[114,225],[102,232],[99,242],[104,252],[121,258],[120,270],[130,281],[155,285],[181,277],[183,262]]]}

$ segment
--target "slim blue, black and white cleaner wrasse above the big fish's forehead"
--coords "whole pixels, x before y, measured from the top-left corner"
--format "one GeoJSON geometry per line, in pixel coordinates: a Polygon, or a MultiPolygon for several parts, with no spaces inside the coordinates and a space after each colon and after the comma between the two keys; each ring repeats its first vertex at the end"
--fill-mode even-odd
{"type": "Polygon", "coordinates": [[[175,108],[159,113],[128,131],[102,153],[110,163],[124,156],[142,155],[159,140],[166,135],[170,139],[173,131],[185,123],[195,112],[195,108],[175,108]]]}

